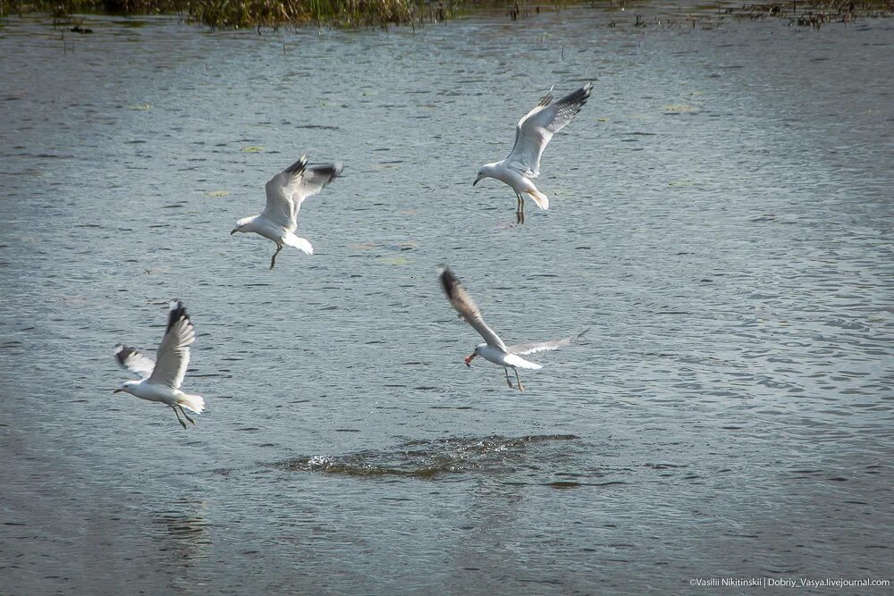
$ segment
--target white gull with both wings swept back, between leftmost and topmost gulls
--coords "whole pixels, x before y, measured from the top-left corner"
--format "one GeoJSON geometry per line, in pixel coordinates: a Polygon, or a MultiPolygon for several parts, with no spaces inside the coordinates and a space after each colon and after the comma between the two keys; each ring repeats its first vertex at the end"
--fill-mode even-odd
{"type": "Polygon", "coordinates": [[[342,173],[342,164],[308,165],[308,158],[301,158],[271,178],[265,186],[267,205],[259,215],[243,217],[230,232],[253,231],[276,243],[276,252],[270,259],[270,268],[276,264],[276,256],[283,246],[298,248],[306,255],[313,255],[314,248],[307,239],[295,235],[298,229],[298,212],[307,197],[316,195],[326,184],[342,173]]]}

